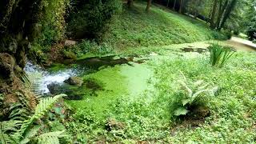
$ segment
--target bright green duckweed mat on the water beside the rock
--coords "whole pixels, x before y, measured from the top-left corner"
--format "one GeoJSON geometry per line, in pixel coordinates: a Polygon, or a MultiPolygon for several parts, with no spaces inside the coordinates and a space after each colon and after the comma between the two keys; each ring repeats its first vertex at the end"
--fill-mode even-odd
{"type": "Polygon", "coordinates": [[[83,77],[85,82],[90,80],[101,86],[101,88],[95,90],[95,94],[91,94],[91,88],[84,84],[79,90],[85,92],[84,99],[79,101],[68,100],[66,103],[75,109],[94,110],[98,116],[103,116],[110,105],[116,102],[118,98],[134,97],[146,90],[147,80],[151,75],[152,72],[145,65],[108,67],[83,77]]]}

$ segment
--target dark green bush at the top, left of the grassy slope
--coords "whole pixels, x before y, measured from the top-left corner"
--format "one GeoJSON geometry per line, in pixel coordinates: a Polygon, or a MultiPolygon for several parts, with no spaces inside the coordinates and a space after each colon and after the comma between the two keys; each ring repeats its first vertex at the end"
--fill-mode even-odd
{"type": "Polygon", "coordinates": [[[107,25],[120,7],[118,0],[72,1],[67,18],[68,31],[73,38],[102,38],[107,25]]]}

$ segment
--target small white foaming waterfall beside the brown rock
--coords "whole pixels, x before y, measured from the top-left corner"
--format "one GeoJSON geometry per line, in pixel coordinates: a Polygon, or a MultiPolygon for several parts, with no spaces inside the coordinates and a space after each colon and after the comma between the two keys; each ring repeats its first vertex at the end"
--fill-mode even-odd
{"type": "Polygon", "coordinates": [[[37,94],[48,94],[50,91],[48,90],[47,85],[54,82],[62,83],[67,78],[78,74],[77,70],[72,69],[60,70],[56,73],[50,73],[42,69],[41,66],[34,65],[31,62],[26,63],[24,70],[30,78],[32,89],[37,94]]]}

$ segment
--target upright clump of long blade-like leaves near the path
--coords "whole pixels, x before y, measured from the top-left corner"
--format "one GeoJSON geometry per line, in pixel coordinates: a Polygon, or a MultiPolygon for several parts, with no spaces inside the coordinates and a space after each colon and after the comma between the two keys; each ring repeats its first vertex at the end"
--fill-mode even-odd
{"type": "Polygon", "coordinates": [[[222,67],[226,61],[234,54],[234,50],[230,46],[221,46],[218,43],[211,43],[210,50],[210,63],[212,66],[222,67]]]}

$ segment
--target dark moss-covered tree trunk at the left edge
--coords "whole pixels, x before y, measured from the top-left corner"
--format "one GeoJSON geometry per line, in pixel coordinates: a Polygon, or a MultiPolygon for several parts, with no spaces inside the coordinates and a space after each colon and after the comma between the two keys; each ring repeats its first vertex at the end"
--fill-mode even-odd
{"type": "MultiPolygon", "coordinates": [[[[15,93],[25,90],[22,84],[23,68],[26,65],[26,54],[30,50],[30,41],[33,39],[33,27],[39,17],[40,2],[0,1],[0,93],[5,95],[4,105],[18,102],[15,93]]],[[[0,114],[1,117],[3,115],[0,114]]]]}

